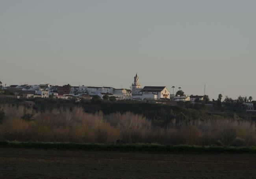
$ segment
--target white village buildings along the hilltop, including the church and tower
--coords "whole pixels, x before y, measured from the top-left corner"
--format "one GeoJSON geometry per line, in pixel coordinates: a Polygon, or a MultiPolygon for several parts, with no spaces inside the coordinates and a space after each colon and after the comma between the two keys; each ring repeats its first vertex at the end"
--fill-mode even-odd
{"type": "MultiPolygon", "coordinates": [[[[54,99],[76,98],[80,100],[91,99],[93,96],[108,95],[113,96],[116,100],[148,100],[155,101],[156,103],[169,103],[176,105],[178,101],[203,101],[204,96],[199,95],[184,95],[175,96],[165,86],[145,86],[141,88],[139,83],[139,76],[136,74],[134,77],[134,83],[132,83],[131,89],[116,89],[113,87],[91,87],[91,86],[71,86],[63,85],[56,86],[50,84],[43,85],[10,85],[4,87],[5,90],[12,92],[17,98],[49,98],[51,96],[54,99]]],[[[254,110],[253,103],[246,103],[249,111],[254,110]]]]}

